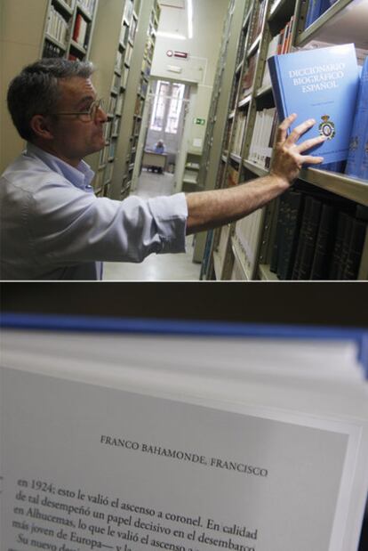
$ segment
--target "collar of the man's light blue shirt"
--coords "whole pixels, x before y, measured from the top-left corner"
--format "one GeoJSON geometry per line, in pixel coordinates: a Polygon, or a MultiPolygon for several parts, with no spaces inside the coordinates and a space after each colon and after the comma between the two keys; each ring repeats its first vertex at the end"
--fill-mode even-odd
{"type": "Polygon", "coordinates": [[[91,182],[94,177],[94,172],[83,160],[75,168],[74,166],[68,165],[65,161],[55,157],[51,153],[47,153],[37,147],[34,143],[30,142],[27,143],[26,155],[41,159],[45,165],[51,168],[54,172],[64,176],[64,178],[66,178],[68,182],[75,185],[76,188],[81,188],[82,190],[92,189],[91,182]]]}

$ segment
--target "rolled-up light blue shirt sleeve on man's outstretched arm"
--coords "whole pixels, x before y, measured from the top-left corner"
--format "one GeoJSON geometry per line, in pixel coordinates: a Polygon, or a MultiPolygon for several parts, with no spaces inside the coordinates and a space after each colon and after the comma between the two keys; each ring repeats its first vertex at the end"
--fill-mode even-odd
{"type": "Polygon", "coordinates": [[[185,252],[184,193],[123,201],[54,185],[33,197],[28,230],[48,263],[141,262],[152,253],[185,252]]]}

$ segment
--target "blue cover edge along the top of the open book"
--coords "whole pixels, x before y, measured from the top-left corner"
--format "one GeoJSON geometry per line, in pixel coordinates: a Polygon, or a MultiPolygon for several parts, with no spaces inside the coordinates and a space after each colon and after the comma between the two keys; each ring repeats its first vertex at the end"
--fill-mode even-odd
{"type": "Polygon", "coordinates": [[[358,361],[368,378],[368,329],[300,325],[248,324],[218,321],[105,318],[59,314],[3,312],[0,328],[42,331],[73,331],[96,334],[149,334],[172,336],[228,336],[232,338],[354,341],[358,361]]]}

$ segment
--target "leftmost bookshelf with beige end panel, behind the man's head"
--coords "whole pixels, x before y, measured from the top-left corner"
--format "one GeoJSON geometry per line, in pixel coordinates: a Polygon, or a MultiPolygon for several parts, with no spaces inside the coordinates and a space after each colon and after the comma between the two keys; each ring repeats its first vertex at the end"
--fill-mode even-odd
{"type": "Polygon", "coordinates": [[[88,59],[98,4],[99,0],[2,0],[1,171],[24,149],[6,109],[9,83],[41,57],[88,59]]]}

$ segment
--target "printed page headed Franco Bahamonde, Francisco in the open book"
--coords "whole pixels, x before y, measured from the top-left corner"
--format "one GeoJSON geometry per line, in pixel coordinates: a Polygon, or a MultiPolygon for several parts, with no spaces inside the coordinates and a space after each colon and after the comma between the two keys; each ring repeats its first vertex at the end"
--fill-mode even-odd
{"type": "Polygon", "coordinates": [[[0,376],[4,551],[342,549],[353,425],[0,376]]]}

